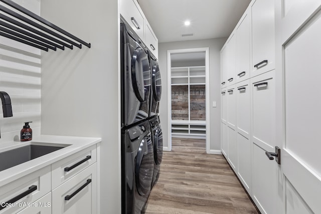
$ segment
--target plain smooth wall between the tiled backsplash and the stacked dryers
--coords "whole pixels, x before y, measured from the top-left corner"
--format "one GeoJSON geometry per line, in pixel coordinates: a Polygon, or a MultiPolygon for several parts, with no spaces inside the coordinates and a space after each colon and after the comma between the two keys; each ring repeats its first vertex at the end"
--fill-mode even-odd
{"type": "Polygon", "coordinates": [[[80,39],[42,54],[42,134],[101,137],[100,211],[120,213],[120,73],[117,0],[42,0],[41,15],[80,39]]]}

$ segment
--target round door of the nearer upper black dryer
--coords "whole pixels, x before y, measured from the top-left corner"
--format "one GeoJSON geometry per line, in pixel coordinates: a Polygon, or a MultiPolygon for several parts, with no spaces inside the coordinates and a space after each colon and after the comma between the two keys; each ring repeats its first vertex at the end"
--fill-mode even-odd
{"type": "Polygon", "coordinates": [[[141,103],[148,100],[149,87],[148,92],[146,92],[145,85],[148,85],[148,82],[144,81],[144,76],[148,76],[149,72],[147,53],[142,48],[136,48],[131,58],[131,82],[135,96],[141,103]]]}

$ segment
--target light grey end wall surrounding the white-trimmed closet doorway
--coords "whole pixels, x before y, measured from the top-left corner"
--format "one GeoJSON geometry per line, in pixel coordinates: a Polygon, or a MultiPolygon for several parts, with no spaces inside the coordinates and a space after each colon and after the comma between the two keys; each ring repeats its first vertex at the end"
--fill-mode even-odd
{"type": "Polygon", "coordinates": [[[170,42],[170,43],[159,43],[158,44],[158,63],[159,69],[162,75],[162,98],[159,104],[159,114],[161,119],[161,125],[163,129],[164,147],[168,146],[168,120],[171,119],[171,114],[167,112],[167,51],[176,49],[189,49],[189,48],[205,48],[210,49],[210,104],[217,102],[217,107],[210,109],[211,118],[211,150],[220,150],[220,114],[221,114],[221,103],[220,103],[220,50],[223,47],[226,38],[220,39],[209,39],[209,40],[194,40],[194,41],[183,41],[183,42],[170,42]]]}

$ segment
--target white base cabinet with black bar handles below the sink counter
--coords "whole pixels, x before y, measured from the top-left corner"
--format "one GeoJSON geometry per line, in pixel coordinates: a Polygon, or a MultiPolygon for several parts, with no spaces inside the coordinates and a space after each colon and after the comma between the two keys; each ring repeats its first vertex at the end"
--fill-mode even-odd
{"type": "Polygon", "coordinates": [[[0,214],[97,213],[96,145],[0,187],[0,214]]]}

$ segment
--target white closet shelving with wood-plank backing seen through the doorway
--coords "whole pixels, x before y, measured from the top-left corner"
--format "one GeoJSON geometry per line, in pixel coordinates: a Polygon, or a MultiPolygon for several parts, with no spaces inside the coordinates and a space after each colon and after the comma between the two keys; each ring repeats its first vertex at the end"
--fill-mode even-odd
{"type": "Polygon", "coordinates": [[[172,67],[173,137],[206,137],[205,75],[205,66],[172,67]]]}

